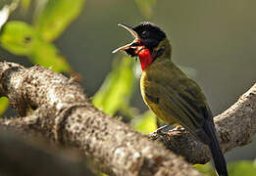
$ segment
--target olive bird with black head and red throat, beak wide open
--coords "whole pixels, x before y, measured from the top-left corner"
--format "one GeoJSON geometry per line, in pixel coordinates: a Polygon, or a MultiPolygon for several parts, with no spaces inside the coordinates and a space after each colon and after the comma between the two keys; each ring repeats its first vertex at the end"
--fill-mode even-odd
{"type": "Polygon", "coordinates": [[[134,27],[119,25],[134,39],[112,53],[123,51],[139,59],[140,92],[145,104],[165,123],[181,125],[207,145],[217,174],[228,176],[227,162],[206,98],[199,85],[173,62],[172,45],[166,33],[152,22],[140,22],[134,27]]]}

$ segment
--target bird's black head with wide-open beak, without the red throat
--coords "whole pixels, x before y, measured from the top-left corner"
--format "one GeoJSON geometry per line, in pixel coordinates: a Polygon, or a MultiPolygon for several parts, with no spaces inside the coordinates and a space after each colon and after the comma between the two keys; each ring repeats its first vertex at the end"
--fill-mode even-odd
{"type": "Polygon", "coordinates": [[[151,22],[141,22],[134,27],[130,27],[127,24],[119,24],[132,34],[134,40],[126,46],[120,47],[113,51],[125,51],[131,57],[138,56],[138,53],[143,49],[149,49],[152,53],[161,41],[166,38],[166,34],[157,25],[151,22]]]}

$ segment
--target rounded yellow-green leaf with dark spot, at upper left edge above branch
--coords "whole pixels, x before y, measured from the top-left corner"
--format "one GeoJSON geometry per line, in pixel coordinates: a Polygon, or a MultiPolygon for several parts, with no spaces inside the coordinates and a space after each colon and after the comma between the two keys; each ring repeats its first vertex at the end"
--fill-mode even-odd
{"type": "Polygon", "coordinates": [[[3,48],[16,55],[31,53],[37,37],[26,22],[7,22],[2,30],[0,42],[3,48]]]}

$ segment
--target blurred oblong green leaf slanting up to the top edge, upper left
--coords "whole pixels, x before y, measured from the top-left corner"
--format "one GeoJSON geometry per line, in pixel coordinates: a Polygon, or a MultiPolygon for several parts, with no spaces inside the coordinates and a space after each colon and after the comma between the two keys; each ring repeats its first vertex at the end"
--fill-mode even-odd
{"type": "Polygon", "coordinates": [[[84,0],[48,0],[35,18],[35,28],[46,41],[56,39],[73,22],[83,8],[84,0]]]}

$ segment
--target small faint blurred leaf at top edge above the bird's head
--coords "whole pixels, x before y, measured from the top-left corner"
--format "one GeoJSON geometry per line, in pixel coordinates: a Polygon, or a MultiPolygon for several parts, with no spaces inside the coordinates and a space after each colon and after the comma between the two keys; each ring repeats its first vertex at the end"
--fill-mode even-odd
{"type": "Polygon", "coordinates": [[[153,7],[156,5],[157,0],[134,0],[134,1],[140,13],[144,17],[149,19],[153,14],[153,7]]]}

